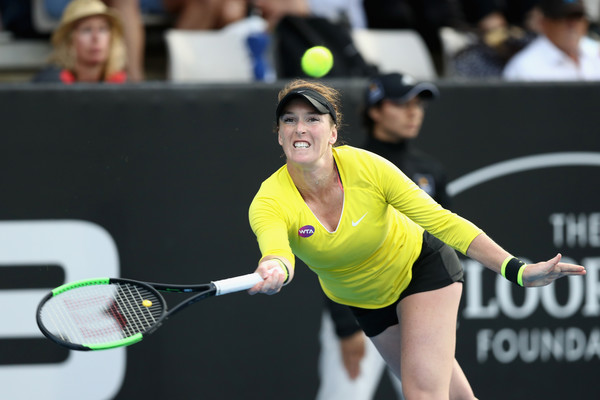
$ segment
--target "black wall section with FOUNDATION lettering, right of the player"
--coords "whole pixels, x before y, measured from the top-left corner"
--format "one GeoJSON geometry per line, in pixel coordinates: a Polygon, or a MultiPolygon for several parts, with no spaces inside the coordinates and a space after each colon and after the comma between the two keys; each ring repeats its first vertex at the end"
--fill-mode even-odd
{"type": "Polygon", "coordinates": [[[591,84],[465,86],[429,110],[420,145],[448,167],[455,211],[524,259],[561,252],[589,271],[523,291],[465,263],[457,358],[479,398],[600,395],[585,384],[600,366],[599,98],[591,84]]]}

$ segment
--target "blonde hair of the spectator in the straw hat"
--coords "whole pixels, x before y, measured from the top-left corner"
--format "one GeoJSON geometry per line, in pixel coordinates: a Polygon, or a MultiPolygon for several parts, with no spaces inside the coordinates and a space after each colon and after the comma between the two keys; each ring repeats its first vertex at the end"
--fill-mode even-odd
{"type": "MultiPolygon", "coordinates": [[[[93,16],[93,15],[92,15],[93,16]]],[[[115,23],[104,15],[98,15],[104,17],[110,25],[110,50],[108,53],[108,59],[104,65],[103,80],[106,80],[109,76],[116,72],[123,71],[127,63],[127,49],[123,40],[123,34],[121,29],[115,25],[115,23]]],[[[86,17],[89,18],[89,17],[86,17]]],[[[73,32],[77,25],[83,21],[78,19],[73,21],[67,27],[67,32],[62,38],[53,43],[53,51],[50,55],[50,62],[58,65],[59,67],[74,71],[77,63],[77,56],[75,54],[75,48],[73,47],[73,32]]]]}

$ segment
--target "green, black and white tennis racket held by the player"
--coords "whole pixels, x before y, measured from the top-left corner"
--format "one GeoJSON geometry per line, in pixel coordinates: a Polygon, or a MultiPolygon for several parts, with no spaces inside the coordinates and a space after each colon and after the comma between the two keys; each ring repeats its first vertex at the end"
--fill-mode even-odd
{"type": "Polygon", "coordinates": [[[250,289],[262,280],[257,273],[191,286],[120,278],[86,279],[48,293],[38,305],[36,320],[48,339],[69,349],[129,346],[187,306],[207,297],[250,289]],[[167,311],[159,291],[197,294],[167,311]]]}

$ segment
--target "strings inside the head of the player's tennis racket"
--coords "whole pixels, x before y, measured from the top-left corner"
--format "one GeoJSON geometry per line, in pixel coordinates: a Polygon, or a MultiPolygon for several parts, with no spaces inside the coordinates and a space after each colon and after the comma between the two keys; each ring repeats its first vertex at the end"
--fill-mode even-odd
{"type": "Polygon", "coordinates": [[[129,283],[90,285],[51,298],[41,310],[51,334],[74,344],[105,344],[143,333],[164,311],[162,301],[129,283]]]}

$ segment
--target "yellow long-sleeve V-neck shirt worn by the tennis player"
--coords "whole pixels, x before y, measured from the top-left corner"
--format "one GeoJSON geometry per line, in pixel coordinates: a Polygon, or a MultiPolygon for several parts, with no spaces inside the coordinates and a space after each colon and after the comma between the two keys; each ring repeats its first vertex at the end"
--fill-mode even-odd
{"type": "Polygon", "coordinates": [[[263,257],[293,263],[296,255],[332,300],[385,307],[408,286],[424,229],[463,254],[481,233],[384,158],[350,146],[334,148],[333,156],[344,187],[334,232],[304,202],[285,165],[262,183],[249,211],[263,257]]]}

